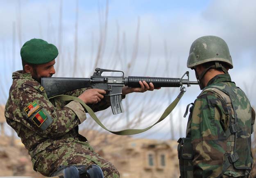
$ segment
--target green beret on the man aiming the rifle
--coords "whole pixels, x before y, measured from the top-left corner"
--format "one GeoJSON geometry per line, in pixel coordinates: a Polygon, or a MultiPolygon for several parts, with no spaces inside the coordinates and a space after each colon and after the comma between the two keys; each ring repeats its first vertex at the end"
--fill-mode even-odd
{"type": "Polygon", "coordinates": [[[54,60],[59,52],[56,46],[41,39],[31,39],[20,49],[22,61],[29,64],[45,64],[54,60]]]}

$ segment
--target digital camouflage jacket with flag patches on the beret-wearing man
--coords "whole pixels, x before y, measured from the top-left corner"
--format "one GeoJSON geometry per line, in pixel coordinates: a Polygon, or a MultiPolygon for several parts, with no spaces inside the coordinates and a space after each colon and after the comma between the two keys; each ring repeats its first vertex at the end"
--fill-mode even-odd
{"type": "MultiPolygon", "coordinates": [[[[12,79],[5,117],[32,157],[56,140],[86,141],[78,134],[78,125],[86,119],[86,112],[79,102],[50,101],[44,88],[32,79],[30,73],[16,71],[12,79]]],[[[74,90],[66,95],[78,97],[85,90],[74,90]]],[[[109,104],[102,100],[89,106],[96,112],[108,108],[109,104]]]]}

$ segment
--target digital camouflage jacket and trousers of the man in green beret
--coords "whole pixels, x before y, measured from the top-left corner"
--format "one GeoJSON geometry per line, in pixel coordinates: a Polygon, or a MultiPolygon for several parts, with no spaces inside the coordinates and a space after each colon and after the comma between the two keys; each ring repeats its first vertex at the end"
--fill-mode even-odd
{"type": "MultiPolygon", "coordinates": [[[[13,84],[5,107],[7,123],[14,128],[32,158],[34,170],[50,176],[60,165],[97,164],[107,178],[118,178],[117,169],[94,152],[78,133],[86,119],[77,101],[50,101],[30,73],[13,73],[13,84]]],[[[79,96],[85,89],[69,92],[79,96]]],[[[90,105],[94,111],[109,107],[106,101],[90,105]]]]}

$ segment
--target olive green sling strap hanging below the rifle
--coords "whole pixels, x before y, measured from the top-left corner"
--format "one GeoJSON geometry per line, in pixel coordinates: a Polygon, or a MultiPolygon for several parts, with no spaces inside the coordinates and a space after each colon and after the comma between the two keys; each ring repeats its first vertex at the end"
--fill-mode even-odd
{"type": "Polygon", "coordinates": [[[93,112],[93,110],[87,106],[84,101],[82,101],[81,99],[77,98],[77,97],[73,97],[73,96],[69,96],[69,95],[57,95],[54,97],[50,97],[49,99],[61,99],[63,101],[78,101],[80,104],[82,104],[82,106],[84,106],[84,108],[87,110],[87,112],[89,113],[89,115],[93,118],[93,120],[95,120],[95,122],[97,122],[97,124],[99,124],[102,128],[104,128],[106,131],[109,131],[111,133],[114,133],[116,135],[134,135],[134,134],[138,134],[138,133],[142,133],[145,132],[147,130],[149,130],[150,128],[152,128],[154,125],[156,125],[157,123],[161,122],[163,119],[165,119],[165,117],[167,117],[172,110],[175,108],[175,106],[178,104],[179,100],[181,99],[181,97],[183,96],[184,92],[186,92],[185,88],[181,88],[181,92],[179,93],[179,95],[177,96],[176,99],[174,99],[174,101],[165,109],[165,111],[163,112],[163,114],[161,115],[161,117],[158,119],[158,121],[156,123],[154,123],[152,126],[149,126],[147,128],[144,129],[125,129],[122,131],[110,131],[109,129],[107,129],[101,122],[100,119],[98,119],[98,117],[95,115],[95,113],[93,112]]]}

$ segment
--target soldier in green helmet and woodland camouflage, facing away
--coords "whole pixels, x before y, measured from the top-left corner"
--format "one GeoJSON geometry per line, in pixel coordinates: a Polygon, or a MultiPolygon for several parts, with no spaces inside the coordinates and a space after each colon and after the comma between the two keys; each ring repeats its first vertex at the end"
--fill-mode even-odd
{"type": "Polygon", "coordinates": [[[186,138],[178,141],[181,178],[249,177],[255,112],[231,81],[227,43],[217,36],[198,38],[187,66],[195,70],[203,91],[190,107],[186,138]]]}

